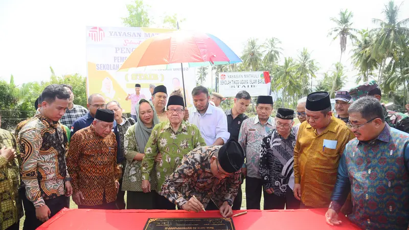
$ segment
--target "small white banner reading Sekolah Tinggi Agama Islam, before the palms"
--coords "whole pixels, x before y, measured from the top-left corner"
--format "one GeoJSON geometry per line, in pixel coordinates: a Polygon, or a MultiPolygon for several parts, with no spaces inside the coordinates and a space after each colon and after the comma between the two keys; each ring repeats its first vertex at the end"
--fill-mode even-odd
{"type": "Polygon", "coordinates": [[[266,83],[265,73],[263,71],[219,73],[219,93],[224,97],[235,97],[238,91],[245,90],[252,97],[270,95],[269,75],[266,83]]]}

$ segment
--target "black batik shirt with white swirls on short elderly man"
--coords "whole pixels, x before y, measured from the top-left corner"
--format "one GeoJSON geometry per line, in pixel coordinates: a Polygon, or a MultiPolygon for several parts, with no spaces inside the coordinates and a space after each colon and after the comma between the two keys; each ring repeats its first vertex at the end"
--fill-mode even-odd
{"type": "Polygon", "coordinates": [[[277,129],[271,129],[261,142],[260,175],[264,190],[273,189],[277,196],[284,196],[294,166],[294,130],[284,139],[277,129]]]}

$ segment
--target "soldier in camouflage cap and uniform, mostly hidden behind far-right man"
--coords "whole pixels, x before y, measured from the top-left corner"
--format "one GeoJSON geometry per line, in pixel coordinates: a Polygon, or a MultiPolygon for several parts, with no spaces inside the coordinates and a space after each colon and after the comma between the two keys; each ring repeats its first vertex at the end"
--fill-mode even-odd
{"type": "MultiPolygon", "coordinates": [[[[380,101],[382,97],[381,90],[375,80],[367,81],[351,88],[349,94],[352,97],[352,101],[356,101],[365,96],[372,96],[380,101]]],[[[401,112],[388,110],[384,105],[382,105],[382,108],[385,121],[390,127],[409,133],[409,116],[401,112]]]]}

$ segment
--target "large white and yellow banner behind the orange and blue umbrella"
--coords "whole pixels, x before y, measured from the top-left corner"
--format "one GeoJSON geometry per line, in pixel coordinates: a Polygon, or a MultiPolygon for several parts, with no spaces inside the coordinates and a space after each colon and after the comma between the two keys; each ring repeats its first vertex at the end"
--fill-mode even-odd
{"type": "MultiPolygon", "coordinates": [[[[141,94],[150,99],[149,84],[165,85],[168,95],[181,89],[181,70],[152,70],[152,68],[120,71],[122,63],[144,40],[170,29],[136,27],[86,27],[87,95],[102,94],[106,102],[116,100],[124,112],[130,112],[128,94],[135,93],[135,84],[141,84],[141,94]]],[[[196,86],[195,68],[184,67],[185,94],[188,106],[196,86]]]]}

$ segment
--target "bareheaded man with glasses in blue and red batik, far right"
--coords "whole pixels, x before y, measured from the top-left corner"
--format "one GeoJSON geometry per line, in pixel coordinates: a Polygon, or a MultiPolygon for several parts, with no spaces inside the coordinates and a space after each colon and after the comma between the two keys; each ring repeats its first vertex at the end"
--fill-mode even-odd
{"type": "Polygon", "coordinates": [[[356,100],[349,121],[356,139],[340,159],[326,222],[341,223],[337,213],[351,192],[353,213],[348,219],[360,228],[407,229],[409,134],[388,125],[374,97],[356,100]]]}

